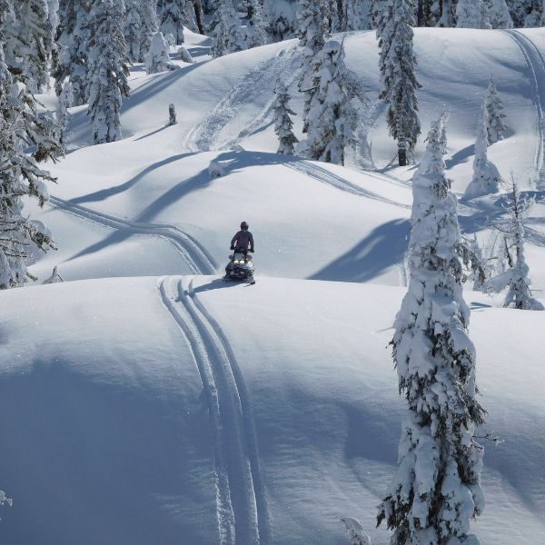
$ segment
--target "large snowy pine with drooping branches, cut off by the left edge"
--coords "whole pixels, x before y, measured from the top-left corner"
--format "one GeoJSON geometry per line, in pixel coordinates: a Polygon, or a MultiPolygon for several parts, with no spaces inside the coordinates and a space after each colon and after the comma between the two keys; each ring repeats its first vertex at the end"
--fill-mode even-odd
{"type": "Polygon", "coordinates": [[[36,133],[34,104],[15,85],[12,70],[18,73],[18,66],[6,63],[5,47],[9,48],[13,37],[15,28],[9,26],[14,21],[11,0],[0,0],[0,289],[24,284],[30,276],[26,261],[33,247],[44,252],[54,247],[47,230],[23,213],[25,197],[44,205],[48,198],[45,182],[54,178],[21,151],[25,143],[35,142],[40,135],[36,133]]]}

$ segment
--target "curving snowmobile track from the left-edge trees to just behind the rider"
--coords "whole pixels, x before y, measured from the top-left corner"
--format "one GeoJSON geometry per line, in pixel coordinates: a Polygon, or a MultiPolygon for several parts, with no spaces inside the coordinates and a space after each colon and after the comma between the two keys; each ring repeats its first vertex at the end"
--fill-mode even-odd
{"type": "Polygon", "coordinates": [[[117,218],[107,213],[100,213],[80,204],[64,201],[59,197],[50,196],[49,202],[57,208],[75,216],[84,218],[90,222],[99,223],[119,231],[126,231],[131,234],[147,234],[159,236],[181,253],[183,260],[195,274],[213,274],[217,264],[213,261],[203,246],[198,243],[190,234],[184,233],[175,225],[166,223],[137,223],[117,218]]]}

